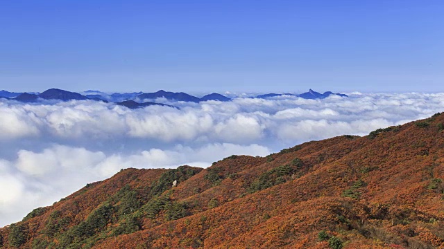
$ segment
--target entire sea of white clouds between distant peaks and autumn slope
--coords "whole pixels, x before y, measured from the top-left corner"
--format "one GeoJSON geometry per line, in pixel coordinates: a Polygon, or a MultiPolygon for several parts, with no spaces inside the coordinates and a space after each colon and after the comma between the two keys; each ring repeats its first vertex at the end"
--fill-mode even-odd
{"type": "Polygon", "coordinates": [[[364,136],[444,111],[444,93],[349,93],[127,109],[90,100],[0,100],[0,226],[127,167],[208,167],[309,140],[364,136]]]}

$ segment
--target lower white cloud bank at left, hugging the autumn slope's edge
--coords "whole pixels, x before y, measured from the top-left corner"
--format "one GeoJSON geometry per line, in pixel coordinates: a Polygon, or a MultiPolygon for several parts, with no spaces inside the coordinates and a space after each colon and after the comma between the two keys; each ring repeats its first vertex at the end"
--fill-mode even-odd
{"type": "Polygon", "coordinates": [[[20,150],[15,160],[0,159],[0,225],[19,221],[34,208],[51,205],[86,183],[100,181],[122,168],[208,167],[232,154],[266,156],[260,145],[176,145],[169,150],[151,148],[134,154],[109,154],[85,148],[53,145],[42,151],[20,150]]]}

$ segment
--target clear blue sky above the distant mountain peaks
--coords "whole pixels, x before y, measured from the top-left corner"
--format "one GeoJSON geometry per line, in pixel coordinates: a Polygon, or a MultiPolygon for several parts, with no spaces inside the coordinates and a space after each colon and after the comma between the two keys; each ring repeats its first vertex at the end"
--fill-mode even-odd
{"type": "Polygon", "coordinates": [[[0,3],[9,91],[444,91],[442,0],[0,3]]]}

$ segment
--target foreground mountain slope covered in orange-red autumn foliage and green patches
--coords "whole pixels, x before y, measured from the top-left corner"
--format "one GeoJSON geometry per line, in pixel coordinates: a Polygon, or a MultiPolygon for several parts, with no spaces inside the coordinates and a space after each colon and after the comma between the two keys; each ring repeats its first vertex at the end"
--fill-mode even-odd
{"type": "Polygon", "coordinates": [[[436,114],[207,169],[125,169],[0,236],[3,248],[443,248],[443,179],[436,114]]]}

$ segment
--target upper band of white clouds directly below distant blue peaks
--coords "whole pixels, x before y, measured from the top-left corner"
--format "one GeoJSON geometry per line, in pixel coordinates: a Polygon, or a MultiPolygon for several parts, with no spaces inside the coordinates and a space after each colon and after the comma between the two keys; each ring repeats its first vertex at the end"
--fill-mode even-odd
{"type": "MultiPolygon", "coordinates": [[[[0,124],[0,138],[37,137],[57,142],[137,138],[165,143],[198,140],[249,144],[291,127],[315,131],[305,128],[305,124],[310,123],[325,128],[328,131],[325,134],[316,132],[318,138],[325,138],[341,133],[364,134],[377,127],[427,117],[444,109],[443,98],[442,93],[355,93],[350,98],[335,95],[324,100],[287,96],[271,100],[235,98],[232,102],[200,104],[167,102],[180,106],[180,110],[169,107],[130,110],[92,101],[2,102],[0,118],[5,122],[0,124]],[[334,130],[337,132],[330,132],[334,130]]],[[[307,135],[293,135],[291,139],[300,142],[307,139],[307,135]]]]}

